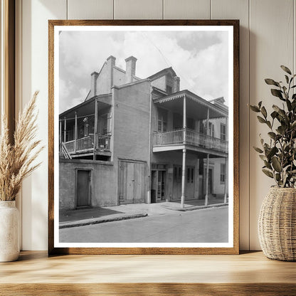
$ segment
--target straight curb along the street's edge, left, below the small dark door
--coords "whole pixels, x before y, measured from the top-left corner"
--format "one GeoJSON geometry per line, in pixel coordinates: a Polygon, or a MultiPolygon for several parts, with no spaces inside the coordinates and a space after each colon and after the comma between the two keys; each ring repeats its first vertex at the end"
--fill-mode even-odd
{"type": "Polygon", "coordinates": [[[60,223],[59,228],[62,229],[62,228],[70,228],[70,227],[79,227],[79,226],[93,225],[93,224],[99,224],[99,223],[142,218],[146,216],[148,216],[147,213],[135,213],[133,215],[117,216],[112,218],[98,218],[97,220],[88,219],[88,220],[80,220],[80,221],[73,221],[73,222],[62,222],[60,223]]]}

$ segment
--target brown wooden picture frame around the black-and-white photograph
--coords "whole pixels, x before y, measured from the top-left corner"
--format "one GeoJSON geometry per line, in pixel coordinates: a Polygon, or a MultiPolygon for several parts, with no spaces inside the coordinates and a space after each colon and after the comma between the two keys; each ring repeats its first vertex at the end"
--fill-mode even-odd
{"type": "Polygon", "coordinates": [[[239,21],[238,20],[50,20],[48,21],[48,254],[238,254],[239,252],[239,21]],[[233,248],[54,247],[54,26],[233,26],[233,248]]]}

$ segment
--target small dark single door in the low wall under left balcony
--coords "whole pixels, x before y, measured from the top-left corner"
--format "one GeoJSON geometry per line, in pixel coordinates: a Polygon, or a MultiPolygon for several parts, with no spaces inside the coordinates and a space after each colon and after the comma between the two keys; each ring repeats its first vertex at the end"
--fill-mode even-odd
{"type": "Polygon", "coordinates": [[[76,184],[76,207],[90,206],[90,171],[78,169],[76,184]]]}

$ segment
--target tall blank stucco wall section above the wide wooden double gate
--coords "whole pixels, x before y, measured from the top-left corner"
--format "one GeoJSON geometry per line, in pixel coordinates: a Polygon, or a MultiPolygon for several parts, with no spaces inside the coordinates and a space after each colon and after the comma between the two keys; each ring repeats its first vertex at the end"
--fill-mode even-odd
{"type": "Polygon", "coordinates": [[[150,83],[113,90],[114,156],[148,162],[150,83]]]}

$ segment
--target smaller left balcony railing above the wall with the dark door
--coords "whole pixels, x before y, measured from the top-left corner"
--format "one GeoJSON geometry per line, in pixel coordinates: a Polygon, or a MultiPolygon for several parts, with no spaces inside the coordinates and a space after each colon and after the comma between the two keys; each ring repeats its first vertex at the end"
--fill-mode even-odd
{"type": "Polygon", "coordinates": [[[110,154],[110,136],[97,134],[95,142],[96,144],[94,144],[94,135],[89,134],[87,137],[64,142],[63,144],[71,157],[79,157],[80,154],[90,154],[94,151],[96,154],[110,154]]]}

